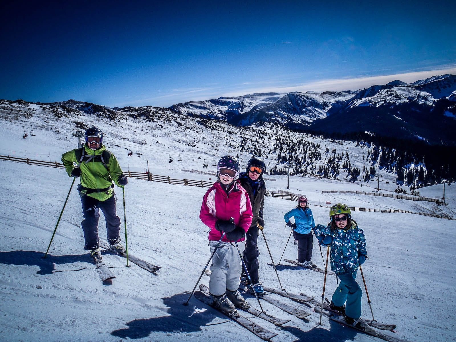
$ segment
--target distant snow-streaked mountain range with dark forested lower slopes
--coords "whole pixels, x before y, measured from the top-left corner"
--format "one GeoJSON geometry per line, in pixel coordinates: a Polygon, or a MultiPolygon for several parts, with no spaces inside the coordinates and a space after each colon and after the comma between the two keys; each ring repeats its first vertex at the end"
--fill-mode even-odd
{"type": "Polygon", "coordinates": [[[237,126],[268,122],[326,134],[369,132],[430,144],[456,144],[456,75],[414,83],[395,80],[355,91],[254,93],[175,104],[170,109],[237,126]]]}

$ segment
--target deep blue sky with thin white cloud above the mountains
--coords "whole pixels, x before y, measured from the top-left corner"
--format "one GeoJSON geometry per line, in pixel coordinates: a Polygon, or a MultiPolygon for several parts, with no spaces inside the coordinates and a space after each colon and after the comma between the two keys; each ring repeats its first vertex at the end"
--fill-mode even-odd
{"type": "Polygon", "coordinates": [[[455,1],[17,1],[0,98],[109,107],[456,73],[455,1]]]}

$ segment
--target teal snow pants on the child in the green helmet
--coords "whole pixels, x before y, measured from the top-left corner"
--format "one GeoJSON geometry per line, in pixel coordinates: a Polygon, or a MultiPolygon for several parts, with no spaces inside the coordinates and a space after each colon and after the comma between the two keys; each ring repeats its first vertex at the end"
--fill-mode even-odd
{"type": "Polygon", "coordinates": [[[337,275],[340,283],[336,291],[332,295],[332,302],[335,306],[343,306],[345,304],[345,315],[358,319],[361,317],[361,297],[363,291],[359,287],[356,278],[356,273],[348,272],[337,275]]]}

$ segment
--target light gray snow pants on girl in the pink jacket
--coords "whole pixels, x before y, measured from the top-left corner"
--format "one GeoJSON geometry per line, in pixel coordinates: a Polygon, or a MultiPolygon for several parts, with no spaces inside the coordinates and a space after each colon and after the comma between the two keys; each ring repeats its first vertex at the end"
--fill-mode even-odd
{"type": "MultiPolygon", "coordinates": [[[[209,242],[211,254],[217,244],[218,241],[209,242]]],[[[238,246],[242,253],[244,242],[238,242],[238,246]]],[[[209,292],[212,295],[224,295],[226,290],[238,290],[242,265],[236,245],[221,242],[212,257],[212,264],[209,269],[212,271],[209,280],[209,292]]]]}

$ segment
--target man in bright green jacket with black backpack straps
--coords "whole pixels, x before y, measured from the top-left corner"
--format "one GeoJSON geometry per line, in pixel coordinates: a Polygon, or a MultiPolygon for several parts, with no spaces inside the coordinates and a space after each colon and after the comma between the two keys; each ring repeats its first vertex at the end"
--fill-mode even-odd
{"type": "Polygon", "coordinates": [[[118,187],[127,185],[127,177],[117,162],[116,157],[106,146],[102,145],[103,132],[96,127],[85,132],[83,147],[71,150],[62,155],[62,163],[70,177],[79,177],[79,195],[83,206],[84,249],[95,257],[100,257],[98,241],[99,209],[106,220],[108,242],[116,252],[124,253],[125,248],[120,244],[120,219],[116,213],[116,198],[114,183],[118,187]]]}

